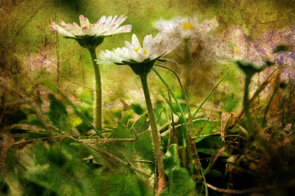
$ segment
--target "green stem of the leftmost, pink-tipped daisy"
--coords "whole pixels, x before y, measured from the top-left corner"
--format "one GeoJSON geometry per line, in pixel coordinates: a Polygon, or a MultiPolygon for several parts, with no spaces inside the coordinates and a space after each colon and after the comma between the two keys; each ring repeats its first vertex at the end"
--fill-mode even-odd
{"type": "Polygon", "coordinates": [[[94,109],[94,122],[95,127],[100,130],[102,129],[102,93],[101,93],[101,78],[99,72],[99,65],[95,63],[96,58],[95,47],[88,48],[93,63],[95,73],[95,109],[94,109]]]}

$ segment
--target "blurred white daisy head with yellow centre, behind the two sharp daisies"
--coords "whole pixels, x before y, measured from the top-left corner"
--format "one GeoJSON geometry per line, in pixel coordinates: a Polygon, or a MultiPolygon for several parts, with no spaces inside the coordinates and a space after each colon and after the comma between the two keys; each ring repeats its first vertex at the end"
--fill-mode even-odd
{"type": "Polygon", "coordinates": [[[169,21],[161,19],[154,24],[154,27],[160,32],[173,34],[181,39],[203,36],[217,26],[216,19],[207,20],[200,24],[196,16],[191,18],[177,17],[169,21]]]}

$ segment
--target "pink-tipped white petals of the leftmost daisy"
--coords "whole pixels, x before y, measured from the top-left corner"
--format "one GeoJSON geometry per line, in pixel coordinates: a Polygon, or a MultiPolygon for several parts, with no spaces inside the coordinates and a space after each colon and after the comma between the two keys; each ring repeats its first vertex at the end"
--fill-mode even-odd
{"type": "Polygon", "coordinates": [[[52,31],[56,31],[59,34],[70,38],[76,38],[77,36],[109,36],[118,33],[130,32],[132,25],[119,27],[119,25],[127,19],[127,16],[121,15],[118,19],[117,17],[117,15],[114,18],[112,16],[102,16],[97,23],[91,24],[89,23],[88,18],[80,15],[79,19],[81,26],[74,22],[66,24],[59,20],[61,27],[50,21],[51,25],[49,28],[52,31]]]}

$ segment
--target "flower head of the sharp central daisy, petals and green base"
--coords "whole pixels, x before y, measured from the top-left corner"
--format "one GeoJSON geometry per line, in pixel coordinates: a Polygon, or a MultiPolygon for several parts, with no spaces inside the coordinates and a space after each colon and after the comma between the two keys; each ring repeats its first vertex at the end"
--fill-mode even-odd
{"type": "Polygon", "coordinates": [[[154,62],[168,54],[179,45],[177,38],[165,37],[158,34],[155,37],[147,35],[144,38],[143,47],[135,34],[132,35],[132,42],[125,41],[126,47],[101,51],[101,60],[97,64],[129,65],[136,74],[148,73],[154,62]]]}

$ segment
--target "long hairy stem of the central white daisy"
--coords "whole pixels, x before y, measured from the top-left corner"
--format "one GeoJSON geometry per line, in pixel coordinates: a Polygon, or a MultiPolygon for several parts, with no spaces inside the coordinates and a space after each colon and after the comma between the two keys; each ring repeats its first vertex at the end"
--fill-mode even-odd
{"type": "Polygon", "coordinates": [[[158,173],[159,173],[159,183],[158,183],[158,194],[161,193],[165,188],[165,176],[164,176],[164,165],[163,165],[163,155],[161,153],[161,147],[160,147],[160,139],[158,135],[158,129],[157,129],[157,123],[155,119],[155,115],[153,112],[149,91],[148,91],[148,74],[142,74],[140,75],[140,79],[143,85],[143,90],[145,94],[145,99],[147,103],[147,109],[148,109],[148,117],[150,122],[150,128],[151,128],[151,135],[152,135],[152,141],[154,144],[154,150],[156,155],[156,164],[158,166],[158,173]]]}

